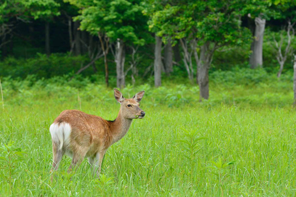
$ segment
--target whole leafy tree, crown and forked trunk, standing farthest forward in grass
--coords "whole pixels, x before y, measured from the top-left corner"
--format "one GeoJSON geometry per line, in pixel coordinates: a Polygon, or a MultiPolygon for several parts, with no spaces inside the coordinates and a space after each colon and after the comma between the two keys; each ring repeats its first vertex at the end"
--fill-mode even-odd
{"type": "Polygon", "coordinates": [[[200,99],[209,98],[209,68],[215,50],[250,38],[249,31],[241,28],[242,4],[240,0],[170,0],[149,21],[150,29],[159,30],[158,36],[192,40],[200,99]]]}

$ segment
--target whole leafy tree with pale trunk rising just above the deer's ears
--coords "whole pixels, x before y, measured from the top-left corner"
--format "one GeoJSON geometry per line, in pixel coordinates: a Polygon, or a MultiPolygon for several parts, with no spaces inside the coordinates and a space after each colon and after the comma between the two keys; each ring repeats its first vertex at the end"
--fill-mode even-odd
{"type": "MultiPolygon", "coordinates": [[[[125,47],[143,45],[147,35],[147,17],[140,0],[69,0],[80,8],[80,29],[93,35],[105,34],[114,43],[116,86],[125,86],[125,47]]],[[[106,65],[106,64],[105,64],[106,65]]]]}

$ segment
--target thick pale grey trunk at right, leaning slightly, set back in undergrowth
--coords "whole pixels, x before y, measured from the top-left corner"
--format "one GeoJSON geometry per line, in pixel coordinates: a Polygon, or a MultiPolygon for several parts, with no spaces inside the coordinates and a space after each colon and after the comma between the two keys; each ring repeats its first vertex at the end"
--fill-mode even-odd
{"type": "Polygon", "coordinates": [[[255,34],[254,40],[251,44],[252,54],[250,56],[251,68],[262,67],[262,45],[263,45],[263,34],[265,29],[265,19],[256,17],[255,19],[255,34]]]}

